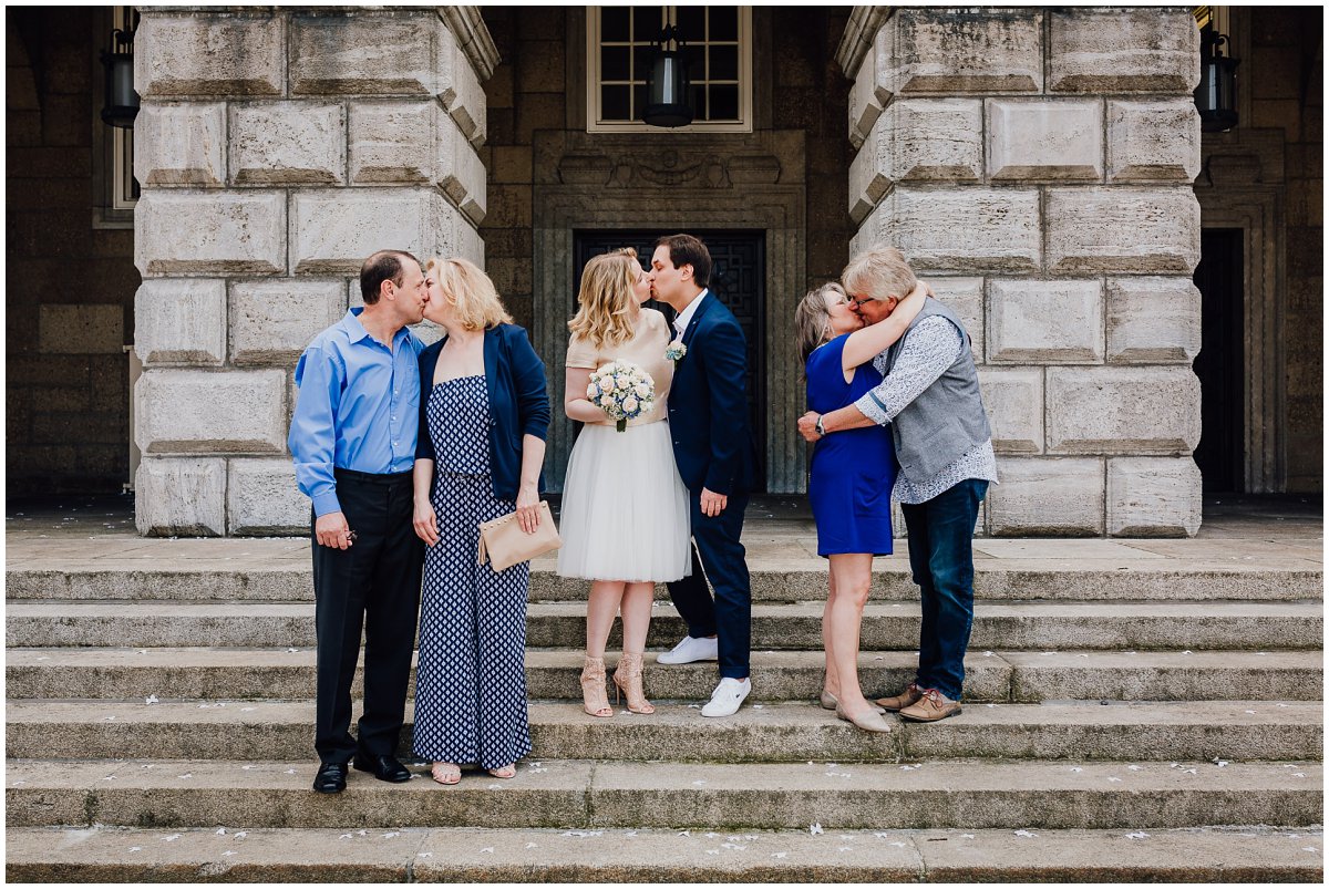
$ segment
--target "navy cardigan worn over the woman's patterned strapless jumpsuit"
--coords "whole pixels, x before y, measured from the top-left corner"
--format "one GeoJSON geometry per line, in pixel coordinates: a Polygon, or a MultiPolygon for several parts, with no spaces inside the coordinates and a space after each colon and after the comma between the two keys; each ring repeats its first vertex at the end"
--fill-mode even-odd
{"type": "MultiPolygon", "coordinates": [[[[437,461],[425,409],[433,392],[433,371],[443,352],[444,336],[420,352],[420,437],[416,460],[437,461]]],[[[498,324],[485,331],[485,388],[489,391],[489,465],[494,497],[517,500],[521,488],[521,439],[549,437],[549,391],[545,363],[536,355],[526,331],[516,324],[498,324]]],[[[545,476],[540,476],[540,490],[545,476]]]]}

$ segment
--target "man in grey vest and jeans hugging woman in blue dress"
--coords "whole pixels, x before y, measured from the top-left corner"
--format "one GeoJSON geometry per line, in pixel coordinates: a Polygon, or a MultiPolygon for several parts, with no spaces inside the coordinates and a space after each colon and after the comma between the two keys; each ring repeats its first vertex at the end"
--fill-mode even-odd
{"type": "MultiPolygon", "coordinates": [[[[888,318],[909,292],[894,280],[904,256],[878,247],[841,275],[868,324],[888,318]]],[[[960,712],[965,650],[974,621],[973,532],[987,484],[997,481],[991,428],[964,324],[930,296],[905,335],[873,365],[881,385],[856,403],[799,419],[808,441],[844,429],[890,425],[900,460],[893,492],[909,532],[909,566],[922,598],[918,672],[898,695],[877,703],[905,719],[934,722],[960,712]]],[[[861,460],[889,458],[861,454],[861,460]]]]}

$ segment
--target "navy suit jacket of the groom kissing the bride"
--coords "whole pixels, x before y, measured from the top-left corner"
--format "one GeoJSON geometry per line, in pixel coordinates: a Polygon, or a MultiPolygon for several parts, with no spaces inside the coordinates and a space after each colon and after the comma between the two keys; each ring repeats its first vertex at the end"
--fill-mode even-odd
{"type": "Polygon", "coordinates": [[[734,312],[707,291],[683,331],[668,427],[678,474],[692,493],[746,494],[756,485],[756,446],[744,393],[747,343],[734,312]]]}

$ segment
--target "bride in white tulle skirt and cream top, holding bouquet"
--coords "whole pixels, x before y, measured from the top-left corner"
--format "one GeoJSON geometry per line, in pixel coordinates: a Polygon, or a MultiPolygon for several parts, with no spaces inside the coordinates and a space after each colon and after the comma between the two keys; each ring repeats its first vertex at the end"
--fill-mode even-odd
{"type": "Polygon", "coordinates": [[[637,251],[595,256],[582,272],[581,308],[567,324],[563,411],[586,425],[563,481],[558,573],[591,582],[581,675],[583,708],[591,716],[614,715],[605,694],[605,646],[619,611],[623,655],[614,684],[630,711],[655,712],[642,688],[655,583],[691,570],[687,489],[666,421],[674,379],[674,364],[664,357],[670,331],[663,315],[642,306],[650,292],[637,251]],[[631,361],[655,381],[655,407],[623,432],[586,399],[591,371],[613,360],[631,361]]]}

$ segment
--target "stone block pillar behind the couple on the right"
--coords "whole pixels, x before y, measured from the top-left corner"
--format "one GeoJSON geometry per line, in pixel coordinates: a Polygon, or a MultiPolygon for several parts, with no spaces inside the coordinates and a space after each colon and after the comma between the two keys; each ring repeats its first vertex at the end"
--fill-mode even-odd
{"type": "Polygon", "coordinates": [[[987,533],[1195,534],[1195,21],[881,9],[840,47],[851,252],[898,247],[973,335],[1002,480],[987,533]]]}

